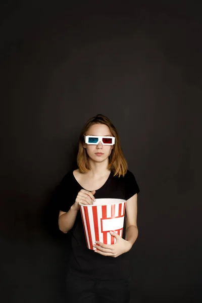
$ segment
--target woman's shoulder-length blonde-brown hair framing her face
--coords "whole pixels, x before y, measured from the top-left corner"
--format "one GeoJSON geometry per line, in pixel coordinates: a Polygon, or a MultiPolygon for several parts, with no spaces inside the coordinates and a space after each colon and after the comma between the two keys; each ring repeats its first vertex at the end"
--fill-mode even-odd
{"type": "Polygon", "coordinates": [[[86,151],[86,148],[83,147],[84,134],[94,124],[105,124],[109,127],[112,135],[115,137],[115,145],[109,156],[109,165],[108,169],[114,173],[114,176],[124,176],[127,172],[128,166],[120,144],[119,134],[109,118],[104,115],[96,115],[95,117],[90,118],[86,124],[83,126],[81,134],[79,136],[79,150],[77,155],[77,165],[81,173],[87,173],[90,170],[89,157],[86,151]]]}

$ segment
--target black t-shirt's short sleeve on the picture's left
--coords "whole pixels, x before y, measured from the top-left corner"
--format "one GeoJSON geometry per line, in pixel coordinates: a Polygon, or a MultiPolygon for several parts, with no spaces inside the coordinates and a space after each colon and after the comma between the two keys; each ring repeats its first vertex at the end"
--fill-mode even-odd
{"type": "Polygon", "coordinates": [[[68,212],[75,202],[72,196],[72,172],[68,172],[56,187],[55,203],[62,212],[68,212]]]}

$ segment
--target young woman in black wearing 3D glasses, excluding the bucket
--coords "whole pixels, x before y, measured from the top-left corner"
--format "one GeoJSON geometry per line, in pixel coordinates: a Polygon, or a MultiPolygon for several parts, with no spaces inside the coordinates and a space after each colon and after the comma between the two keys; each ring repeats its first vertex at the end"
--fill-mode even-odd
{"type": "Polygon", "coordinates": [[[67,173],[58,187],[59,228],[71,230],[72,254],[68,267],[68,302],[129,302],[129,250],[137,235],[137,193],[134,175],[127,169],[119,135],[112,122],[96,115],[84,125],[79,138],[78,169],[67,173]],[[96,198],[126,201],[123,237],[116,232],[112,245],[94,243],[88,249],[79,202],[96,198]]]}

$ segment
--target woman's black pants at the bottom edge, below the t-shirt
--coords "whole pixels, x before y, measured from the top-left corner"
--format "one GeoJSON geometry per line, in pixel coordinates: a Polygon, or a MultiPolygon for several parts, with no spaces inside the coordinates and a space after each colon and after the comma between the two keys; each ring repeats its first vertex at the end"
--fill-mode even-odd
{"type": "Polygon", "coordinates": [[[129,279],[103,281],[68,273],[67,303],[129,303],[129,284],[129,279]]]}

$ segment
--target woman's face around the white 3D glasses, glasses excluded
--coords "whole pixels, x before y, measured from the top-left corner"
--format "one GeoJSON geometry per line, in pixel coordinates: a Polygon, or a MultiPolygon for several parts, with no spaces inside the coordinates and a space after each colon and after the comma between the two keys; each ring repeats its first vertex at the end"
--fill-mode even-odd
{"type": "MultiPolygon", "coordinates": [[[[85,135],[113,136],[109,127],[105,124],[94,124],[90,126],[85,135]]],[[[97,145],[84,143],[83,147],[86,148],[87,154],[92,161],[103,162],[110,156],[114,145],[103,145],[102,142],[99,141],[97,145]]]]}

